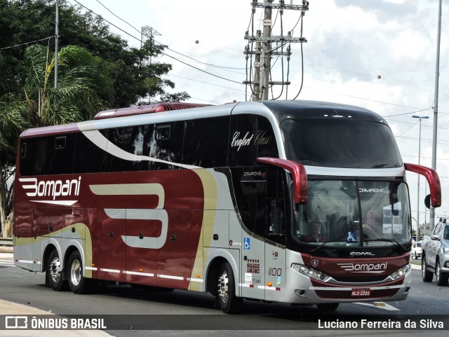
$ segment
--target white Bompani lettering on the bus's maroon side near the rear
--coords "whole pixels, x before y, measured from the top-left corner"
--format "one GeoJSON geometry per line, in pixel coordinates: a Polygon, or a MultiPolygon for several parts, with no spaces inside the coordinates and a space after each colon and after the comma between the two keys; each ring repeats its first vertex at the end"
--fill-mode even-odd
{"type": "Polygon", "coordinates": [[[67,196],[67,195],[79,195],[79,188],[81,186],[81,177],[78,179],[66,180],[48,180],[48,181],[38,181],[36,178],[20,178],[22,182],[22,187],[27,192],[29,197],[56,197],[67,196]]]}

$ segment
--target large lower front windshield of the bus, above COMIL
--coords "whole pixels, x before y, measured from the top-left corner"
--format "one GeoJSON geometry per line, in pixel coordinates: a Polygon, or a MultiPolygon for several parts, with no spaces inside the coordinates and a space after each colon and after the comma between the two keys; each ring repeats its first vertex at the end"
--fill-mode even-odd
{"type": "Polygon", "coordinates": [[[293,238],[326,246],[403,245],[411,240],[408,187],[398,181],[309,181],[295,206],[293,238]]]}

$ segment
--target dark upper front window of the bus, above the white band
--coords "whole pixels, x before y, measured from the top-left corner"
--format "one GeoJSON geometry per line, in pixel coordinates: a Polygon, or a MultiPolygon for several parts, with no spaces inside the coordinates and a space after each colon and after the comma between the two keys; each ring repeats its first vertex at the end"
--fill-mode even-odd
{"type": "Polygon", "coordinates": [[[281,123],[286,156],[303,165],[401,167],[393,133],[387,125],[348,119],[303,119],[281,123]]]}

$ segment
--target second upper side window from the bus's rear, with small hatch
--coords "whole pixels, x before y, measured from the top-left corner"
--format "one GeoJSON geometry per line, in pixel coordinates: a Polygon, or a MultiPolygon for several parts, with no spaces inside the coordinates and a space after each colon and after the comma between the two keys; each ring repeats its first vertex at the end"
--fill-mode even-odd
{"type": "Polygon", "coordinates": [[[74,133],[47,137],[46,174],[73,173],[75,138],[74,133]]]}

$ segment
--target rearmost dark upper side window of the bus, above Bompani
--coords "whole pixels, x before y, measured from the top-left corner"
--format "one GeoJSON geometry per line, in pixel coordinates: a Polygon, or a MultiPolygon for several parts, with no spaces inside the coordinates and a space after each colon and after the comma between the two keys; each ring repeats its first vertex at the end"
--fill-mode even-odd
{"type": "Polygon", "coordinates": [[[22,139],[20,142],[20,174],[34,176],[44,174],[46,137],[22,139]]]}

